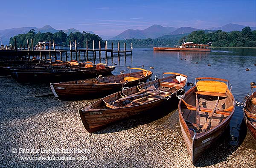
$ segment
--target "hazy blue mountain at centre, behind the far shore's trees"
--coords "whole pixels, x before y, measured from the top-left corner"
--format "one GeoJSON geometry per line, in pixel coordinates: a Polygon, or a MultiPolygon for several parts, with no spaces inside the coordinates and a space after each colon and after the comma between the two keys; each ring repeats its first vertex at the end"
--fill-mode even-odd
{"type": "Polygon", "coordinates": [[[144,30],[128,29],[123,31],[121,34],[113,37],[112,39],[148,39],[157,38],[165,34],[169,34],[175,31],[177,28],[174,27],[163,27],[161,25],[152,25],[144,30]]]}

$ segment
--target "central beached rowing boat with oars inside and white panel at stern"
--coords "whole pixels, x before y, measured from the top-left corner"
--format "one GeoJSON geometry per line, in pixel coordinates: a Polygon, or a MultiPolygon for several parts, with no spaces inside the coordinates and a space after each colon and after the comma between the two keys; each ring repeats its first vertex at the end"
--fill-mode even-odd
{"type": "Polygon", "coordinates": [[[161,106],[170,98],[177,98],[177,94],[184,91],[187,76],[180,73],[164,74],[171,76],[113,93],[79,109],[85,129],[90,133],[96,132],[110,123],[161,106]]]}

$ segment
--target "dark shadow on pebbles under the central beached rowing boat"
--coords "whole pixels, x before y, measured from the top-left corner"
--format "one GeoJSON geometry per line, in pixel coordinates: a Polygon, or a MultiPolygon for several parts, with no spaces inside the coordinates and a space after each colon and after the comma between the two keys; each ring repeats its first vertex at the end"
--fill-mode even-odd
{"type": "Polygon", "coordinates": [[[151,123],[155,120],[163,118],[168,115],[170,112],[173,112],[178,107],[179,100],[169,100],[164,104],[155,107],[151,110],[141,113],[140,115],[135,115],[125,120],[118,121],[116,123],[111,123],[106,126],[104,129],[97,131],[93,134],[106,134],[112,132],[120,132],[123,130],[132,129],[134,127],[151,123]]]}

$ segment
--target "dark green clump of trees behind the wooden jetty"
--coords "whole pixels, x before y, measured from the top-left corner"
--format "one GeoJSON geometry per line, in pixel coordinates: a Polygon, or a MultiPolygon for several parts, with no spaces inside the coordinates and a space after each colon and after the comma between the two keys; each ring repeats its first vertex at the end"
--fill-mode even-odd
{"type": "Polygon", "coordinates": [[[67,35],[63,31],[58,31],[54,34],[52,33],[36,33],[34,29],[30,30],[27,34],[19,34],[17,36],[10,38],[10,44],[15,45],[15,40],[17,43],[17,47],[20,45],[23,47],[25,45],[27,47],[27,39],[29,40],[29,45],[31,44],[30,40],[33,39],[33,46],[37,45],[38,42],[49,42],[49,40],[54,39],[54,43],[63,45],[64,47],[69,47],[69,41],[76,43],[80,43],[79,47],[86,48],[86,41],[88,41],[88,47],[93,47],[93,40],[95,43],[95,48],[99,48],[99,41],[101,46],[104,46],[104,42],[102,38],[100,38],[96,34],[90,34],[83,31],[83,33],[75,32],[67,35]]]}

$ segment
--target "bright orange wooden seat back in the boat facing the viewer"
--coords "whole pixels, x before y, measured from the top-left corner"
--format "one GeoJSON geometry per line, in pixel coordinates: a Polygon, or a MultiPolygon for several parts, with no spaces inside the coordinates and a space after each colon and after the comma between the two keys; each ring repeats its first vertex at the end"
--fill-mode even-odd
{"type": "Polygon", "coordinates": [[[196,83],[198,95],[212,95],[227,97],[227,84],[220,81],[198,81],[196,83]]]}

